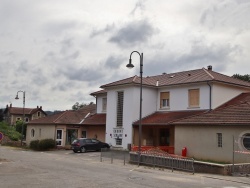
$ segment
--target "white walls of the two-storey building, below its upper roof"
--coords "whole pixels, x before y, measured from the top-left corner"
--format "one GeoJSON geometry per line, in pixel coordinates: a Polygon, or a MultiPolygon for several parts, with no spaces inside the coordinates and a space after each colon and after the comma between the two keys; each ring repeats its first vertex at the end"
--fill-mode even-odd
{"type": "MultiPolygon", "coordinates": [[[[139,85],[124,85],[105,88],[106,95],[97,95],[97,113],[103,113],[102,101],[107,97],[106,110],[106,142],[114,147],[128,148],[133,144],[134,137],[132,124],[139,120],[140,87],[139,85]],[[123,126],[117,127],[117,92],[124,92],[123,97],[123,126]],[[122,139],[117,144],[116,139],[122,139]]],[[[242,92],[250,91],[243,87],[213,82],[179,84],[166,87],[144,87],[142,90],[142,118],[156,111],[186,111],[214,109],[242,92]],[[189,107],[189,90],[199,89],[199,106],[189,107]],[[169,107],[160,108],[160,93],[169,92],[169,107]]],[[[175,134],[178,134],[175,133],[175,134]]],[[[175,141],[175,143],[177,140],[175,141]]],[[[178,148],[180,149],[180,148],[178,148]]]]}

